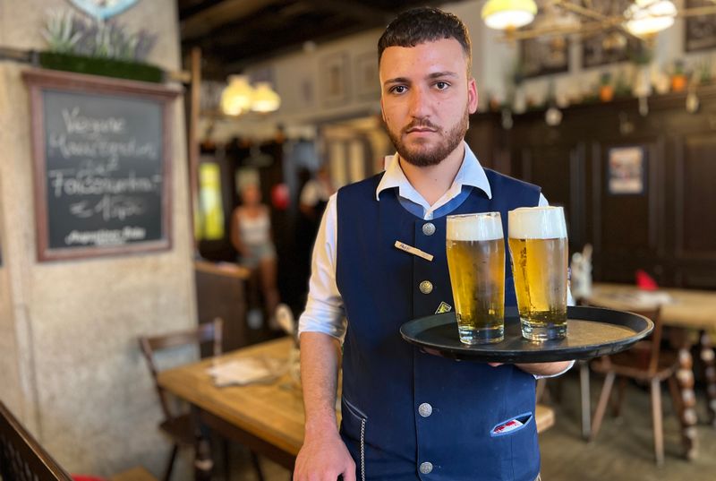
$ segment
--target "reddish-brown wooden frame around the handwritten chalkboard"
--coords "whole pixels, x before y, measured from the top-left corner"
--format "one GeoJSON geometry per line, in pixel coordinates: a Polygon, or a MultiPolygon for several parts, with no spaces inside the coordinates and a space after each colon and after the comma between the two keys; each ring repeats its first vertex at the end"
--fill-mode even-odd
{"type": "Polygon", "coordinates": [[[165,251],[172,248],[172,135],[174,126],[173,100],[182,90],[149,82],[135,82],[97,75],[65,73],[47,69],[29,69],[22,72],[22,78],[30,93],[31,140],[34,167],[34,211],[37,232],[37,254],[39,262],[74,260],[100,256],[122,255],[165,251]],[[159,239],[124,245],[102,245],[81,247],[51,247],[47,212],[47,158],[43,93],[53,90],[69,93],[86,93],[126,97],[134,100],[148,99],[159,102],[162,107],[162,204],[161,230],[159,239]]]}

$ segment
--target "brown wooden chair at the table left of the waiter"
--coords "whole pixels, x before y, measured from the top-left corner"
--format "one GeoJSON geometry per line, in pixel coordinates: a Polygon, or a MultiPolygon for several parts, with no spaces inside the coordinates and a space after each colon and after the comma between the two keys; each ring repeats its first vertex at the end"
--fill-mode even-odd
{"type": "MultiPolygon", "coordinates": [[[[164,481],[169,481],[172,476],[172,468],[174,468],[174,462],[176,454],[181,446],[194,447],[197,439],[201,436],[199,427],[194,424],[191,414],[181,413],[177,414],[172,411],[169,407],[169,397],[167,392],[164,391],[157,382],[158,366],[155,355],[158,351],[168,348],[178,348],[181,346],[195,345],[201,348],[201,345],[212,343],[212,356],[221,355],[222,345],[222,331],[224,322],[221,318],[214,319],[213,322],[207,322],[200,324],[197,329],[188,331],[177,331],[169,334],[141,337],[140,348],[144,357],[147,359],[147,365],[149,365],[149,372],[151,373],[152,379],[154,379],[155,387],[159,396],[159,403],[164,413],[165,420],[159,424],[159,428],[167,434],[174,445],[172,452],[169,456],[169,460],[166,465],[164,481]]],[[[224,441],[224,461],[226,469],[226,479],[229,479],[230,467],[229,467],[229,449],[228,442],[224,441]]],[[[254,468],[256,469],[257,475],[260,481],[263,481],[263,475],[260,469],[259,459],[256,454],[251,452],[251,461],[253,462],[254,468]]]]}

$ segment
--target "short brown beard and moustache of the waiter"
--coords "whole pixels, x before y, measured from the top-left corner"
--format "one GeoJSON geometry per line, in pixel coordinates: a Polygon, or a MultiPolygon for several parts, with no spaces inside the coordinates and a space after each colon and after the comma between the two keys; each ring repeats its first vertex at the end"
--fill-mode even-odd
{"type": "Polygon", "coordinates": [[[450,128],[449,131],[433,125],[429,120],[413,120],[408,125],[405,125],[400,132],[393,132],[388,125],[388,137],[393,145],[396,146],[396,150],[401,159],[404,159],[409,164],[415,167],[430,167],[437,166],[440,162],[445,159],[450,152],[456,150],[460,142],[463,142],[467,127],[470,125],[470,112],[467,106],[465,106],[465,114],[462,118],[450,128]],[[407,134],[407,131],[416,127],[427,127],[434,129],[441,136],[441,141],[438,145],[430,147],[429,145],[413,145],[408,146],[403,142],[403,136],[407,134]]]}

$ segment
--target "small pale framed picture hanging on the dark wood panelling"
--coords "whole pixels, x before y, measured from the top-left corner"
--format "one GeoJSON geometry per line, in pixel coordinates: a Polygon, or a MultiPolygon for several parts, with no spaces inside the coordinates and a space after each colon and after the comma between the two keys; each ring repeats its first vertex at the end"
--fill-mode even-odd
{"type": "Polygon", "coordinates": [[[644,193],[646,155],[642,146],[609,149],[607,172],[611,194],[644,193]]]}

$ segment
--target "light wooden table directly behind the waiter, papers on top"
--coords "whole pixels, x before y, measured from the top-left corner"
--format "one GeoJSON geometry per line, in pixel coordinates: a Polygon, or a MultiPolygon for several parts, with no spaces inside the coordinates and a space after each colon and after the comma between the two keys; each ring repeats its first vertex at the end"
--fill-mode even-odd
{"type": "MultiPolygon", "coordinates": [[[[293,470],[303,444],[303,395],[288,374],[268,384],[224,388],[214,386],[207,374],[212,363],[241,357],[265,356],[286,361],[291,342],[290,338],[271,340],[169,369],[158,375],[158,383],[188,401],[202,425],[293,470]]],[[[554,424],[554,412],[538,405],[535,421],[537,431],[542,432],[554,424]]]]}

